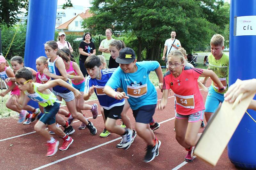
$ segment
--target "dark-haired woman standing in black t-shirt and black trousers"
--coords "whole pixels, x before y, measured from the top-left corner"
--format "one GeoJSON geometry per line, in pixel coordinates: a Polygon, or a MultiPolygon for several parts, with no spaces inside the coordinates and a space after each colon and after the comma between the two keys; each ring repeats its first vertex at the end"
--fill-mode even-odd
{"type": "Polygon", "coordinates": [[[80,42],[79,45],[79,67],[80,70],[82,71],[84,77],[87,75],[89,75],[84,67],[84,61],[86,60],[86,58],[90,55],[95,55],[96,54],[96,49],[95,49],[95,45],[92,42],[92,34],[90,32],[86,32],[84,34],[84,39],[83,41],[80,42]]]}

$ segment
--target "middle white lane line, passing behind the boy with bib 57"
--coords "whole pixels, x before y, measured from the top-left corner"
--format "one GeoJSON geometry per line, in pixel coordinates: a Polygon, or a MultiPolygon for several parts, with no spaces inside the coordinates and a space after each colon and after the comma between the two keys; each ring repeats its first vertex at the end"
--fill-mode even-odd
{"type": "MultiPolygon", "coordinates": [[[[170,120],[173,120],[174,118],[175,118],[175,117],[172,117],[172,118],[170,118],[170,119],[164,120],[163,122],[160,122],[159,124],[168,122],[168,121],[170,121],[170,120]]],[[[63,160],[66,160],[66,159],[72,158],[72,157],[74,157],[74,156],[80,155],[80,154],[82,154],[82,153],[85,153],[85,152],[91,151],[91,150],[93,150],[93,149],[96,149],[96,148],[98,148],[98,147],[100,147],[100,146],[104,146],[104,145],[107,145],[107,144],[109,144],[109,143],[115,142],[116,140],[121,139],[121,138],[122,138],[122,137],[119,137],[119,138],[110,140],[110,141],[108,141],[108,142],[106,142],[106,143],[103,143],[103,144],[94,146],[94,147],[92,147],[92,148],[90,148],[90,149],[86,149],[86,150],[84,150],[84,151],[75,153],[75,154],[73,154],[73,155],[69,155],[69,156],[67,156],[67,157],[65,157],[65,158],[56,160],[56,161],[54,161],[54,162],[51,162],[51,163],[49,163],[49,164],[46,164],[46,165],[43,165],[43,166],[40,166],[40,167],[37,167],[37,168],[35,168],[35,169],[33,169],[33,170],[43,169],[43,168],[45,168],[45,167],[47,167],[47,166],[54,165],[54,164],[59,163],[59,162],[61,162],[61,161],[63,161],[63,160]]]]}

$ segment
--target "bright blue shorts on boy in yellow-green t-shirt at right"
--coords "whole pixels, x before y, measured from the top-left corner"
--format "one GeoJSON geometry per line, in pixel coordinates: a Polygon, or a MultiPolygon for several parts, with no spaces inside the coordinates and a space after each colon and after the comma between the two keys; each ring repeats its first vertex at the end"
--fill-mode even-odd
{"type": "Polygon", "coordinates": [[[204,112],[214,113],[218,108],[220,103],[224,101],[224,94],[216,92],[212,85],[209,88],[208,95],[205,101],[205,110],[204,112]]]}

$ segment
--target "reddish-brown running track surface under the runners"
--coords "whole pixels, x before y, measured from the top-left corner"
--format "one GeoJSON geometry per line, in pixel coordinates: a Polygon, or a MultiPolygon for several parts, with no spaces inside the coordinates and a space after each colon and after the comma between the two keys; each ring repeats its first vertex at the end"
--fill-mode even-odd
{"type": "MultiPolygon", "coordinates": [[[[210,80],[208,81],[208,86],[210,80]]],[[[207,92],[201,90],[206,98],[207,92]]],[[[157,89],[158,99],[162,94],[157,89]]],[[[159,102],[159,101],[158,101],[159,102]]],[[[86,102],[97,103],[98,100],[86,102]]],[[[66,109],[66,107],[62,107],[66,109]]],[[[100,108],[98,108],[100,110],[100,108]]],[[[149,163],[144,163],[145,142],[137,136],[128,150],[116,148],[121,137],[110,134],[107,138],[99,135],[104,128],[102,116],[92,119],[89,111],[84,111],[86,117],[95,125],[98,132],[92,136],[87,128],[78,130],[79,121],[72,126],[76,130],[71,135],[74,139],[72,145],[66,151],[58,151],[52,157],[45,157],[46,145],[44,138],[33,130],[35,123],[29,125],[17,124],[17,118],[2,118],[0,125],[3,133],[0,137],[0,155],[3,169],[237,169],[228,159],[227,149],[222,154],[216,167],[204,163],[200,159],[194,159],[192,163],[184,162],[187,151],[182,148],[175,139],[174,127],[174,98],[173,93],[168,99],[168,105],[164,110],[156,110],[154,119],[161,123],[155,134],[162,144],[159,148],[159,156],[149,163]]],[[[127,115],[134,126],[134,118],[130,109],[127,115]]],[[[121,122],[120,122],[121,124],[121,122]]],[[[62,139],[53,135],[62,144],[62,139]]],[[[211,147],[211,145],[209,145],[211,147]]]]}

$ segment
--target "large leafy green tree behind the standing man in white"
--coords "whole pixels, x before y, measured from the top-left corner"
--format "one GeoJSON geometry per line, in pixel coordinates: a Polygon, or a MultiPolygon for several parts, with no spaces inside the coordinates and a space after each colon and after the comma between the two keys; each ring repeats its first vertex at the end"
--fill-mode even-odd
{"type": "Polygon", "coordinates": [[[84,19],[84,28],[94,34],[105,29],[126,32],[137,38],[137,57],[146,47],[147,59],[161,58],[161,48],[172,30],[190,52],[198,46],[208,46],[212,34],[228,23],[220,10],[221,0],[92,0],[94,16],[84,19]]]}

